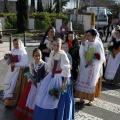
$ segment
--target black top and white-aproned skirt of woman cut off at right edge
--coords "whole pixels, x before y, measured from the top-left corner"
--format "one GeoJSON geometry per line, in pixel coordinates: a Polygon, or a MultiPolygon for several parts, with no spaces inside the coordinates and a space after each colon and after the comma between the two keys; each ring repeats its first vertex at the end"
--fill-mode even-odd
{"type": "Polygon", "coordinates": [[[112,51],[108,59],[106,71],[105,71],[105,80],[118,85],[120,83],[120,38],[115,38],[109,50],[112,51]]]}

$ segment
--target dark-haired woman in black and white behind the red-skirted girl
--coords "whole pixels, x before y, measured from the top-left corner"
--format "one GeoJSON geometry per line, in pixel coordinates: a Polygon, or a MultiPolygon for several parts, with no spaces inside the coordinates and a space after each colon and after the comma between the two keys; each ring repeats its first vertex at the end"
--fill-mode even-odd
{"type": "Polygon", "coordinates": [[[42,51],[42,59],[47,62],[50,52],[52,50],[52,40],[55,36],[55,28],[49,27],[45,33],[43,40],[38,47],[42,51]]]}

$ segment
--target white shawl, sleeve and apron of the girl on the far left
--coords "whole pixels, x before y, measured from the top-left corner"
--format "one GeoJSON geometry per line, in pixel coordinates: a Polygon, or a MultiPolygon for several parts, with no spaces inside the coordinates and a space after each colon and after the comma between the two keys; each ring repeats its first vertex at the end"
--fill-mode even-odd
{"type": "Polygon", "coordinates": [[[22,49],[13,49],[11,51],[12,55],[19,56],[19,62],[15,63],[14,71],[11,72],[11,65],[9,65],[5,80],[4,80],[4,98],[12,98],[13,91],[16,86],[16,82],[18,79],[19,71],[21,67],[28,66],[28,56],[27,52],[22,49]]]}

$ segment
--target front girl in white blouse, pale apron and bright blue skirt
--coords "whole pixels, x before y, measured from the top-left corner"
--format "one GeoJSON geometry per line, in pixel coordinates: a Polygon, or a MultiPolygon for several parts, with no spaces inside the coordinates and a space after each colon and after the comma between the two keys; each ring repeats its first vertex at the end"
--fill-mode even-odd
{"type": "Polygon", "coordinates": [[[73,120],[74,98],[72,89],[66,89],[71,83],[70,63],[66,53],[61,50],[61,39],[53,40],[53,51],[48,60],[48,75],[43,79],[36,97],[33,120],[73,120]],[[65,93],[50,95],[51,89],[59,89],[65,93]]]}

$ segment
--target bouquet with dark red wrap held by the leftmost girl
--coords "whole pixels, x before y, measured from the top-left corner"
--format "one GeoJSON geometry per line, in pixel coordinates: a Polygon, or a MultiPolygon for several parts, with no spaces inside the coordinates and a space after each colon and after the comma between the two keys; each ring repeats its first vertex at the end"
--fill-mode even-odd
{"type": "MultiPolygon", "coordinates": [[[[9,63],[19,62],[18,55],[5,54],[4,59],[9,63]]],[[[11,66],[11,71],[14,71],[14,66],[11,66]]]]}

